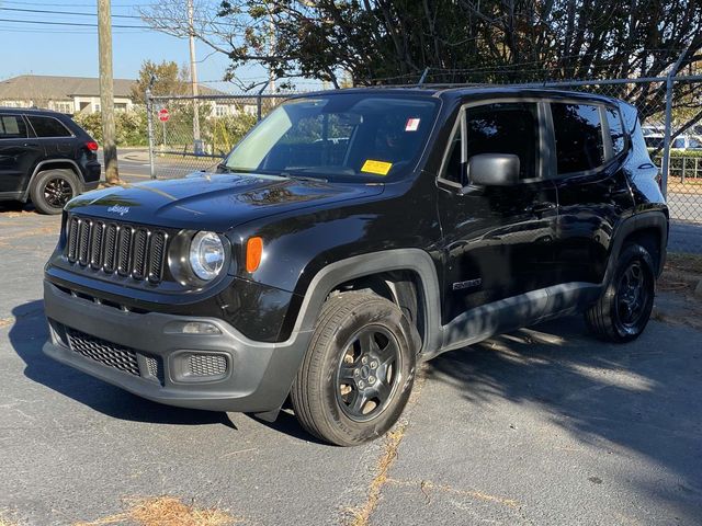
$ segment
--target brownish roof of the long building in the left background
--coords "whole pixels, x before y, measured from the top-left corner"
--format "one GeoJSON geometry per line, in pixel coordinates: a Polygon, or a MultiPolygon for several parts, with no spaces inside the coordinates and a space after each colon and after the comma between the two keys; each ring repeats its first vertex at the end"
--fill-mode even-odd
{"type": "MultiPolygon", "coordinates": [[[[132,98],[136,80],[114,79],[114,96],[132,98]]],[[[222,92],[200,85],[204,95],[222,92]]],[[[22,101],[29,99],[71,100],[73,96],[99,96],[100,80],[92,77],[58,77],[45,75],[21,75],[0,81],[0,100],[22,101]]]]}

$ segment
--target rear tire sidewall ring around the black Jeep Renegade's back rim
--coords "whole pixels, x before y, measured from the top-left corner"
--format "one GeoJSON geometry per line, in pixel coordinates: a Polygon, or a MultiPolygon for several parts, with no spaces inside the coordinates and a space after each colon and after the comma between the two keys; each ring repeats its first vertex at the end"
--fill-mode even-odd
{"type": "Polygon", "coordinates": [[[650,254],[638,244],[631,244],[624,249],[620,256],[620,263],[616,267],[616,272],[613,276],[613,279],[609,286],[608,290],[609,301],[610,301],[610,316],[612,328],[616,332],[616,336],[620,341],[631,341],[637,338],[646,328],[648,320],[650,318],[650,312],[653,311],[654,298],[656,296],[656,278],[654,273],[654,263],[650,254]],[[622,278],[622,275],[626,271],[626,268],[634,262],[641,261],[642,270],[646,273],[646,284],[649,287],[648,298],[646,305],[644,306],[643,316],[638,319],[635,325],[626,327],[624,325],[619,317],[619,309],[616,305],[618,300],[618,289],[619,284],[622,278]]]}

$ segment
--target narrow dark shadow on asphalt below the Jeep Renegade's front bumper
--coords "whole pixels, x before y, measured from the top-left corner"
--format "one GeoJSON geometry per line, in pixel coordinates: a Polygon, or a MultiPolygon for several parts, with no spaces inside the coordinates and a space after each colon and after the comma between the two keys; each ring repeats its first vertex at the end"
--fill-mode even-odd
{"type": "Polygon", "coordinates": [[[43,301],[15,307],[12,313],[15,322],[10,343],[26,364],[24,375],[31,380],[115,419],[181,425],[219,423],[237,428],[227,413],[151,402],[49,358],[42,352],[48,338],[43,301]]]}

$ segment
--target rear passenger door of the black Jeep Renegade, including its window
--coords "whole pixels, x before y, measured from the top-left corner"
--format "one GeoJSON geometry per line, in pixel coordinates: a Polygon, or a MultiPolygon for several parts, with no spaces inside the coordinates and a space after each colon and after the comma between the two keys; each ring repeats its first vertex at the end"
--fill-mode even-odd
{"type": "Polygon", "coordinates": [[[600,283],[614,228],[633,206],[623,164],[630,139],[620,111],[601,102],[553,101],[558,190],[555,267],[562,283],[600,283]]]}

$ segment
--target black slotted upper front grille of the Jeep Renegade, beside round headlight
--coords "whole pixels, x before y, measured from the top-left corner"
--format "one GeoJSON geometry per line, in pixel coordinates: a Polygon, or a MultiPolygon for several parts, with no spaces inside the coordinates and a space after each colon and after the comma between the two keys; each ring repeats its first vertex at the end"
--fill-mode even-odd
{"type": "Polygon", "coordinates": [[[165,231],[80,217],[71,217],[67,229],[69,262],[138,281],[163,278],[165,231]]]}

